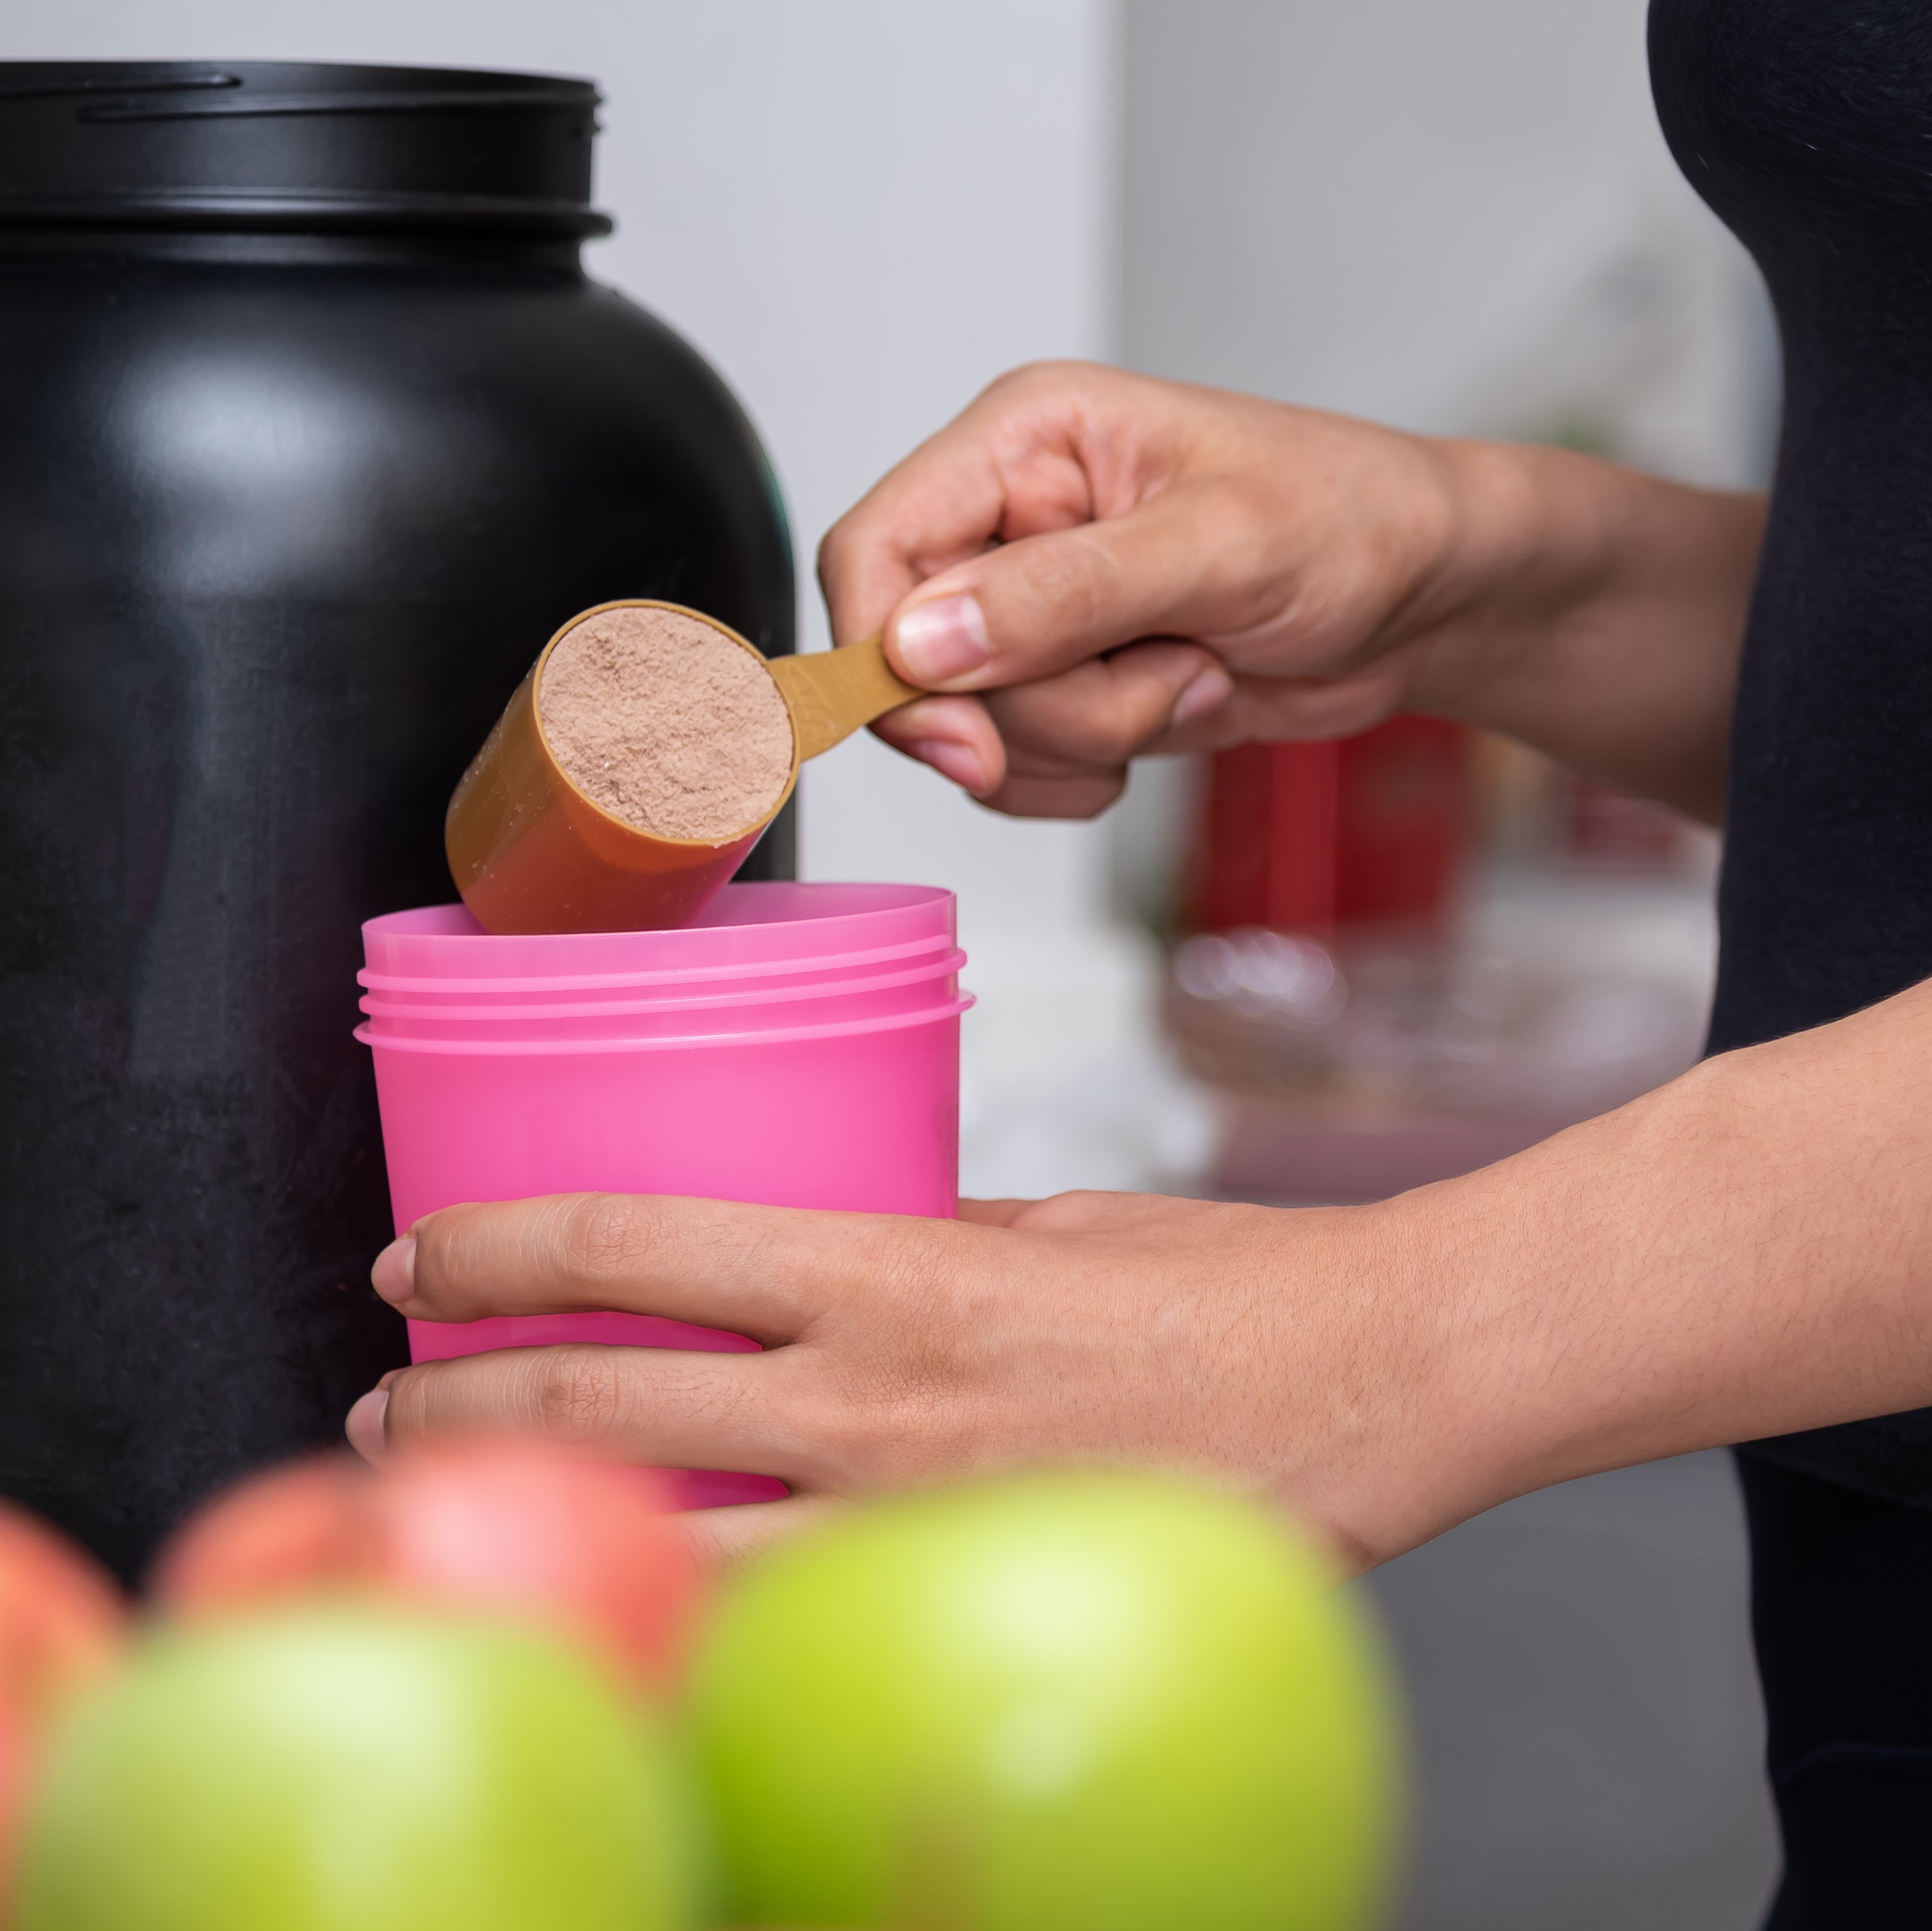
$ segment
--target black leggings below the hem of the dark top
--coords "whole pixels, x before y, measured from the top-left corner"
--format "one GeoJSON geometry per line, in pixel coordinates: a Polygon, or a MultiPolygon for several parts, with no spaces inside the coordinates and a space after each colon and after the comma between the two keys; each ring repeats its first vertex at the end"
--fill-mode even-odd
{"type": "Polygon", "coordinates": [[[1785,1840],[1766,1931],[1926,1931],[1932,1510],[1737,1464],[1785,1840]]]}

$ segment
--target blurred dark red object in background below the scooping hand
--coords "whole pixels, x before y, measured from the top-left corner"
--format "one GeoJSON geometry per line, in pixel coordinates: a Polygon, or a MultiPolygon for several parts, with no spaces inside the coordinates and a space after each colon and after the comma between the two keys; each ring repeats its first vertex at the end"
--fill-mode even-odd
{"type": "Polygon", "coordinates": [[[1335,743],[1217,751],[1194,854],[1194,927],[1434,925],[1468,825],[1468,732],[1441,718],[1389,718],[1335,743]]]}

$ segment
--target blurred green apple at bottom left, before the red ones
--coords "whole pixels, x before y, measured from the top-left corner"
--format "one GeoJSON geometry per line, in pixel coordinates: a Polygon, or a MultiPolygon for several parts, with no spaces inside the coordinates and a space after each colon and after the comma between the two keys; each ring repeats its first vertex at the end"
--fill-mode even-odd
{"type": "Polygon", "coordinates": [[[649,1715],[564,1643],[334,1605],[170,1630],[75,1711],[14,1931],[678,1931],[649,1715]]]}

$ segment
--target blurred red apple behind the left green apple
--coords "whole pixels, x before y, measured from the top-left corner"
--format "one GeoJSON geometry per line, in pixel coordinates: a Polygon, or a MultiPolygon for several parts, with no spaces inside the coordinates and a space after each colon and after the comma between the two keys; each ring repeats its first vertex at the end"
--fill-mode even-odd
{"type": "Polygon", "coordinates": [[[524,1614],[663,1690],[699,1578],[653,1475],[516,1437],[408,1450],[381,1473],[348,1454],[270,1469],[189,1522],[155,1578],[189,1620],[317,1591],[524,1614]]]}

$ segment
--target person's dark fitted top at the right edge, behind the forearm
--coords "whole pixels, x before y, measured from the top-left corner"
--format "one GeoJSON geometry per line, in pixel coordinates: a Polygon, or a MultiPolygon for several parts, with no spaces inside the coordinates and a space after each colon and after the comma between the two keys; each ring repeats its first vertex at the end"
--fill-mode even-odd
{"type": "MultiPolygon", "coordinates": [[[[1932,977],[1932,0],[1652,0],[1650,77],[1785,351],[1731,726],[1723,1050],[1932,977]]],[[[1932,1410],[1756,1448],[1932,1506],[1932,1410]]]]}

